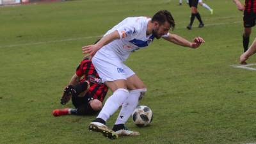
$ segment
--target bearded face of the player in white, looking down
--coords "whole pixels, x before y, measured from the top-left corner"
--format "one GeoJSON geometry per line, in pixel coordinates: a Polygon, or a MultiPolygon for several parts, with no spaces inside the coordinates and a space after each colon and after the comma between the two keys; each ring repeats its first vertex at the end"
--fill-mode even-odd
{"type": "Polygon", "coordinates": [[[164,22],[164,24],[162,25],[159,25],[159,23],[157,22],[155,29],[153,29],[152,33],[157,39],[159,39],[161,38],[161,36],[166,35],[170,28],[171,27],[168,22],[164,22]]]}

